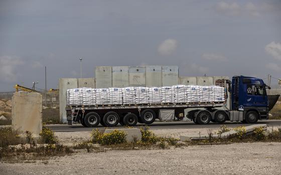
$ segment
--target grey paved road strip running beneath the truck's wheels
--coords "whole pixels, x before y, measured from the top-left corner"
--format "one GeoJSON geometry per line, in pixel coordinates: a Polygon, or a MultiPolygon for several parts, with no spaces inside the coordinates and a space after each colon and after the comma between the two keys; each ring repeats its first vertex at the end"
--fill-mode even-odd
{"type": "MultiPolygon", "coordinates": [[[[237,127],[241,125],[251,125],[242,124],[241,122],[225,122],[227,127],[237,127]]],[[[257,124],[267,124],[270,126],[281,126],[281,120],[262,120],[258,121],[257,124]]],[[[137,124],[135,127],[141,127],[142,124],[137,124]]],[[[209,123],[207,125],[197,125],[192,121],[173,121],[173,122],[154,122],[150,125],[151,129],[173,129],[173,128],[218,128],[220,124],[209,123]]],[[[75,131],[91,131],[94,128],[83,127],[81,124],[66,125],[66,124],[53,124],[48,125],[54,132],[75,132],[75,131]]],[[[96,128],[103,129],[103,126],[98,126],[96,128]]],[[[123,126],[116,126],[113,128],[123,128],[123,126]]]]}

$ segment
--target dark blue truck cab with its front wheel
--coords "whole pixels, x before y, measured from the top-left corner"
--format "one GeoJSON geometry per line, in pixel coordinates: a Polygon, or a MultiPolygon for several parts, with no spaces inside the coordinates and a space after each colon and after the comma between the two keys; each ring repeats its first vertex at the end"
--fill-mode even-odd
{"type": "Polygon", "coordinates": [[[262,79],[245,76],[232,77],[231,111],[241,111],[246,123],[268,119],[270,110],[266,88],[262,79]]]}

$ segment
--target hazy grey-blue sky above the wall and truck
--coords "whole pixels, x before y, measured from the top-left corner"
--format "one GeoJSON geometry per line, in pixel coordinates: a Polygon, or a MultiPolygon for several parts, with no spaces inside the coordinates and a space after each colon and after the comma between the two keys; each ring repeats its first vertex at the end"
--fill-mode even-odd
{"type": "MultiPolygon", "coordinates": [[[[281,78],[280,1],[0,1],[0,91],[178,65],[181,76],[281,78]]],[[[265,80],[266,81],[266,80],[265,80]]],[[[276,80],[272,80],[276,84],[276,80]]]]}

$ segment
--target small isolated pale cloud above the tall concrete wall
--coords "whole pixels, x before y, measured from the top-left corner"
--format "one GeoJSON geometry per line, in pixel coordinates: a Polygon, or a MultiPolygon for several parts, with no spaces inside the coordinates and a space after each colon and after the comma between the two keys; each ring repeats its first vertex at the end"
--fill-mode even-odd
{"type": "Polygon", "coordinates": [[[165,40],[158,47],[158,53],[160,55],[168,56],[176,51],[178,47],[178,41],[174,39],[165,40]]]}

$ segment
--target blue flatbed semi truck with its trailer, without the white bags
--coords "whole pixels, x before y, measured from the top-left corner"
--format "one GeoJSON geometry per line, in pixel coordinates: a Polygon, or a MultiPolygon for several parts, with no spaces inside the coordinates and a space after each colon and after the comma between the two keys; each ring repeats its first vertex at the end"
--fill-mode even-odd
{"type": "Polygon", "coordinates": [[[137,122],[151,124],[161,110],[174,110],[174,120],[184,117],[196,124],[208,124],[210,121],[241,121],[255,123],[267,120],[268,112],[278,100],[279,95],[267,95],[270,89],[262,79],[246,76],[233,76],[232,81],[216,80],[215,85],[224,87],[225,101],[222,102],[190,102],[163,104],[124,104],[124,105],[67,105],[67,121],[69,125],[80,122],[85,127],[106,127],[118,123],[134,126],[137,122]],[[188,109],[187,115],[185,110],[188,109]]]}

